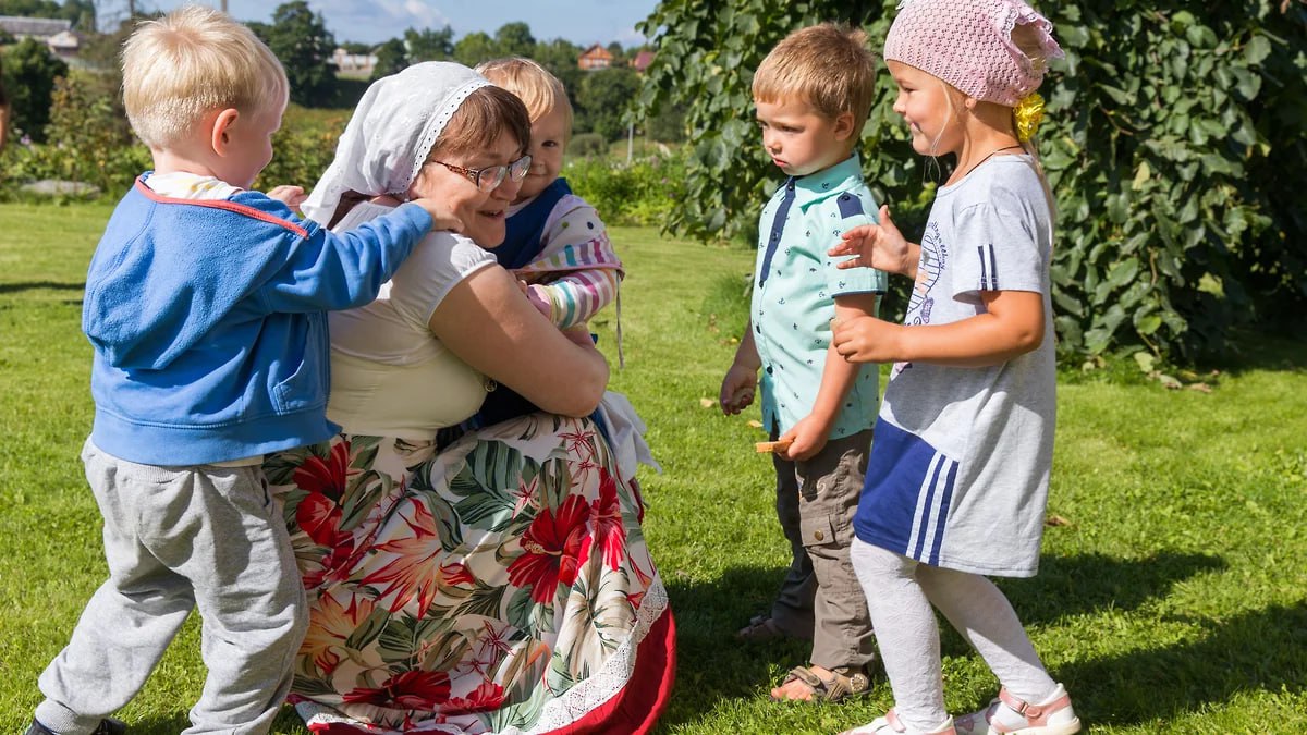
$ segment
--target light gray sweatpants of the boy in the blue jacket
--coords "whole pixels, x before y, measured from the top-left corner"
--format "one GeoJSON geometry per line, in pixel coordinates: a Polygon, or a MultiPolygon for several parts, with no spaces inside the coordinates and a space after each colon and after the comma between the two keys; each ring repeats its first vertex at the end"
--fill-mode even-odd
{"type": "Polygon", "coordinates": [[[105,517],[108,579],[41,675],[37,719],[60,735],[91,732],[140,692],[197,607],[208,677],[184,732],[268,732],[307,608],[263,468],[136,464],[89,439],[82,462],[105,517]]]}

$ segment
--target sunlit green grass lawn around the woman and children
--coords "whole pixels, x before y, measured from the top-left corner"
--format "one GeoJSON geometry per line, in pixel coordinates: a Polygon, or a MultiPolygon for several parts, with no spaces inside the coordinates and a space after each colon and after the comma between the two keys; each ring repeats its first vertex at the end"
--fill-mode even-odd
{"type": "MultiPolygon", "coordinates": [[[[81,292],[107,205],[0,205],[0,732],[20,732],[37,676],[105,575],[81,476],[90,348],[81,292]]],[[[678,628],[678,677],[660,732],[831,734],[891,704],[884,676],[840,705],[779,705],[769,687],[801,645],[740,645],[770,602],[787,545],[757,413],[716,395],[744,320],[752,254],[613,231],[626,369],[613,387],[648,424],[664,472],[643,476],[647,535],[678,628]]],[[[239,243],[233,243],[239,258],[239,243]]],[[[597,324],[613,350],[613,319],[597,324]]],[[[1004,581],[1035,646],[1094,732],[1307,730],[1307,335],[1248,341],[1213,392],[1064,381],[1040,574],[1004,581]]],[[[616,357],[614,357],[616,362],[616,357]]],[[[1001,528],[995,543],[1002,543],[1001,528]]],[[[944,637],[948,704],[997,684],[944,637]]],[[[175,734],[204,670],[196,620],[120,713],[175,734]]],[[[276,732],[306,732],[288,709],[276,732]]]]}

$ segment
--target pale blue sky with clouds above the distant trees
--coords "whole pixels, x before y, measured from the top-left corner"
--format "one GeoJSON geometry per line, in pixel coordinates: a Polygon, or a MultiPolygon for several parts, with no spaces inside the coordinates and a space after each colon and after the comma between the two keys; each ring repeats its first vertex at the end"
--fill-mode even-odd
{"type": "MultiPolygon", "coordinates": [[[[199,1],[221,7],[220,0],[199,1]]],[[[268,22],[281,1],[227,0],[227,12],[243,21],[268,22]]],[[[183,0],[137,4],[171,10],[183,0]]],[[[337,41],[379,43],[403,35],[408,27],[446,25],[457,39],[478,30],[494,35],[503,24],[524,21],[542,41],[566,38],[578,46],[617,41],[635,46],[644,38],[635,31],[635,24],[654,12],[657,0],[308,0],[308,7],[323,14],[337,41]]]]}

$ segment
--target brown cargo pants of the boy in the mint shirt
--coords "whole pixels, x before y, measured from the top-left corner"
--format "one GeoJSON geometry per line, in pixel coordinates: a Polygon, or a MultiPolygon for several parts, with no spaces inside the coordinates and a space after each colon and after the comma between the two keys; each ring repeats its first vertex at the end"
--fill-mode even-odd
{"type": "Polygon", "coordinates": [[[876,658],[867,599],[848,560],[870,445],[867,430],[830,439],[802,462],[772,459],[776,517],[792,556],[771,620],[791,636],[812,637],[809,660],[823,668],[856,670],[876,658]]]}

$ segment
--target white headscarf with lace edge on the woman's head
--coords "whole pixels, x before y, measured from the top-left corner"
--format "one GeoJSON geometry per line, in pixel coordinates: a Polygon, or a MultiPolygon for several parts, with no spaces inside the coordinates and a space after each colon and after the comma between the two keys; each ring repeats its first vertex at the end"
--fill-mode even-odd
{"type": "Polygon", "coordinates": [[[354,107],[336,158],[301,209],[327,224],[346,191],[408,199],[450,118],[486,78],[454,61],[423,61],[372,82],[354,107]]]}

